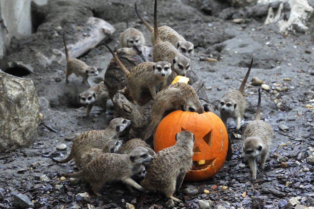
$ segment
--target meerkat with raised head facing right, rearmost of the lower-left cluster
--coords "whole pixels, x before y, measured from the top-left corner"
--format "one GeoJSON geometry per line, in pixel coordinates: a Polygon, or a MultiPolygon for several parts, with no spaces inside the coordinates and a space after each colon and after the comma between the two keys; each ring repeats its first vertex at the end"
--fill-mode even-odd
{"type": "Polygon", "coordinates": [[[108,140],[116,139],[119,133],[124,131],[131,124],[131,120],[124,118],[114,118],[110,121],[109,126],[105,130],[85,131],[78,135],[72,144],[72,149],[69,156],[61,161],[51,157],[53,162],[65,163],[72,158],[78,170],[81,170],[81,156],[91,148],[102,147],[108,140]]]}

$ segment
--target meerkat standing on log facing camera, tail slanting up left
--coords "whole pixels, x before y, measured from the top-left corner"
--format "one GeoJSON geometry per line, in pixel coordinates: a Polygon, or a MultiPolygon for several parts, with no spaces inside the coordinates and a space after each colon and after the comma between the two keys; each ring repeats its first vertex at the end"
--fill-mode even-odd
{"type": "Polygon", "coordinates": [[[108,47],[112,56],[116,60],[118,67],[127,77],[127,89],[133,102],[137,104],[143,87],[149,89],[153,99],[156,97],[156,87],[161,84],[161,89],[165,88],[167,78],[171,75],[171,63],[169,62],[143,62],[136,65],[131,71],[122,64],[116,54],[108,47]]]}

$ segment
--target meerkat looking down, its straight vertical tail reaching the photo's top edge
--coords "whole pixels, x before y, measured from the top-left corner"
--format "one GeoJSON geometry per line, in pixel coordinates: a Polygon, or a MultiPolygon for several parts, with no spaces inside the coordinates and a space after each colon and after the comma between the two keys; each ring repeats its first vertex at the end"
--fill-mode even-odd
{"type": "Polygon", "coordinates": [[[153,46],[153,61],[167,61],[171,63],[172,75],[174,78],[176,75],[186,76],[187,70],[190,69],[191,61],[189,58],[181,54],[170,42],[161,41],[158,33],[157,24],[157,0],[155,0],[154,6],[154,40],[153,46]]]}

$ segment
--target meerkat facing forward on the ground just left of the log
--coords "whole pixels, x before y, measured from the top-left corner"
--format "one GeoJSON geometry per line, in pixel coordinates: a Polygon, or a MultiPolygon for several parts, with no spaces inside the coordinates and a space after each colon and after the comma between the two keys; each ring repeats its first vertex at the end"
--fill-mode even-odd
{"type": "Polygon", "coordinates": [[[80,103],[86,105],[86,113],[83,117],[87,117],[94,105],[99,105],[106,110],[107,100],[109,99],[109,93],[104,81],[101,81],[98,85],[90,87],[88,91],[80,93],[80,103]]]}

